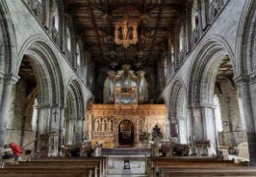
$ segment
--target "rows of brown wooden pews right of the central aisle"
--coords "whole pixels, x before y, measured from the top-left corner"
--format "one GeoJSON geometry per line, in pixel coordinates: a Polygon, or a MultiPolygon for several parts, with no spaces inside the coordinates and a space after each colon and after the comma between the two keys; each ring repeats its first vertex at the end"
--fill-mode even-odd
{"type": "MultiPolygon", "coordinates": [[[[233,163],[232,160],[221,160],[221,158],[215,157],[149,157],[147,172],[151,177],[155,176],[204,176],[201,171],[206,171],[205,176],[220,176],[225,174],[225,176],[233,176],[234,173],[229,171],[236,170],[236,175],[239,175],[240,171],[244,172],[248,168],[248,163],[233,163]],[[199,173],[197,173],[199,172],[199,173]],[[220,172],[220,173],[219,173],[220,172]],[[213,173],[213,174],[212,174],[213,173]],[[211,175],[210,175],[211,174],[211,175]]],[[[250,171],[252,173],[245,173],[247,175],[253,174],[255,171],[250,171]]],[[[256,173],[254,173],[256,176],[256,173]]]]}

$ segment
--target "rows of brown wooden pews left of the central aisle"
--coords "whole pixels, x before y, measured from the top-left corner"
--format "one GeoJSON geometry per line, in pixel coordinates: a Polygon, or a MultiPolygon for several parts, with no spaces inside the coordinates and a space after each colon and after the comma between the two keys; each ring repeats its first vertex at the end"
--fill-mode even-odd
{"type": "Polygon", "coordinates": [[[49,157],[5,165],[0,176],[105,176],[105,157],[49,157]],[[36,173],[34,171],[37,171],[36,173]]]}

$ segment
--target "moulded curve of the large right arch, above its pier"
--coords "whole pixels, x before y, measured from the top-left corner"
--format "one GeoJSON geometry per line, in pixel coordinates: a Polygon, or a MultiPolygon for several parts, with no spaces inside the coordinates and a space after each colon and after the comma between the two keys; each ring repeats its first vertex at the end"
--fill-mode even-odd
{"type": "MultiPolygon", "coordinates": [[[[195,55],[195,62],[190,69],[190,80],[189,80],[189,105],[198,106],[202,104],[202,87],[207,86],[209,82],[204,80],[204,74],[210,72],[216,72],[216,68],[209,67],[209,64],[212,66],[218,67],[218,64],[221,64],[224,56],[228,56],[233,67],[234,78],[237,76],[236,63],[234,59],[233,52],[229,44],[220,36],[213,36],[206,39],[203,42],[203,45],[200,48],[199,52],[195,55]],[[217,58],[218,56],[218,58],[217,58]],[[215,61],[214,61],[215,60],[215,61]],[[209,70],[209,71],[206,71],[209,70]],[[205,83],[204,83],[205,82],[205,83]],[[205,85],[205,86],[203,86],[205,85]]],[[[206,74],[205,74],[206,75],[206,74]]],[[[209,77],[209,76],[208,76],[209,77]]],[[[212,75],[212,77],[216,77],[212,75]]],[[[211,78],[215,80],[215,78],[211,78]]]]}

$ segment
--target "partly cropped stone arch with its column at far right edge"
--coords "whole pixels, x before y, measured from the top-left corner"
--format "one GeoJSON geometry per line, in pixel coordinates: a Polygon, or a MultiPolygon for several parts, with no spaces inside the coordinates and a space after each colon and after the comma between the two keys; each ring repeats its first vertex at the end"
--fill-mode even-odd
{"type": "Polygon", "coordinates": [[[242,14],[236,39],[239,76],[235,82],[243,106],[250,163],[256,165],[256,2],[247,1],[242,14]]]}

